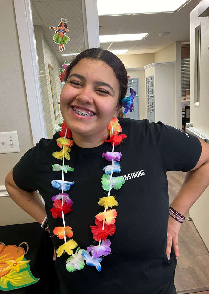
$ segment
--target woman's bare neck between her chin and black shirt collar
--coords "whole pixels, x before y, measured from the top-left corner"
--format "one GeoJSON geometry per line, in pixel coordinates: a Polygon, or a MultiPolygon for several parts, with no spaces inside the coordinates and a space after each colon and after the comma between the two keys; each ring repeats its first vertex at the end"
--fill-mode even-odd
{"type": "Polygon", "coordinates": [[[72,131],[72,139],[78,145],[82,148],[94,148],[104,143],[105,140],[107,140],[109,136],[109,130],[105,129],[103,133],[95,134],[93,136],[86,135],[86,134],[76,134],[72,131]]]}

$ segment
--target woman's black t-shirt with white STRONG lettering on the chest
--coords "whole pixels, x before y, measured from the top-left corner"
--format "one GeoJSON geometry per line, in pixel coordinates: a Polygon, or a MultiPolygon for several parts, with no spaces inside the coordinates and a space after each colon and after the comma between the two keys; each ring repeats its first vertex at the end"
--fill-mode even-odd
{"type": "MultiPolygon", "coordinates": [[[[116,232],[108,236],[112,252],[101,261],[101,272],[85,265],[82,270],[67,272],[66,253],[56,257],[56,269],[62,276],[63,293],[176,293],[174,270],[177,260],[173,246],[168,260],[165,253],[169,197],[167,171],[190,171],[197,164],[202,147],[198,138],[172,126],[149,123],[147,119],[120,119],[122,133],[127,135],[114,151],[121,152],[121,174],[125,184],[119,190],[111,190],[119,205],[116,232]],[[66,289],[66,290],[64,290],[66,289]],[[65,292],[64,292],[65,291],[65,292]]],[[[52,171],[53,164],[62,165],[52,156],[59,151],[56,139],[42,138],[28,150],[13,169],[16,185],[24,191],[39,190],[42,195],[51,235],[53,229],[63,226],[62,219],[52,217],[52,196],[61,193],[53,188],[51,181],[62,180],[62,172],[52,171]]],[[[82,249],[94,242],[90,225],[95,225],[95,215],[104,208],[97,204],[99,198],[107,196],[102,189],[102,168],[111,162],[102,153],[112,151],[110,143],[95,148],[81,148],[75,143],[71,148],[70,161],[65,164],[74,172],[64,174],[64,180],[74,181],[66,193],[73,201],[73,211],[65,215],[65,223],[72,227],[72,239],[82,249]]],[[[113,174],[117,176],[118,174],[113,174]]],[[[52,236],[56,249],[64,243],[52,236]]]]}

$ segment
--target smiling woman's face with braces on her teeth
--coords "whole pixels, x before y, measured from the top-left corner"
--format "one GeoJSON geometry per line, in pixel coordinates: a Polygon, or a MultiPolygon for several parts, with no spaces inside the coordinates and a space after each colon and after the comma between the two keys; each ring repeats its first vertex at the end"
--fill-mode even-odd
{"type": "Polygon", "coordinates": [[[60,110],[67,126],[78,135],[107,131],[118,115],[119,82],[103,61],[83,58],[70,71],[60,95],[60,110]]]}

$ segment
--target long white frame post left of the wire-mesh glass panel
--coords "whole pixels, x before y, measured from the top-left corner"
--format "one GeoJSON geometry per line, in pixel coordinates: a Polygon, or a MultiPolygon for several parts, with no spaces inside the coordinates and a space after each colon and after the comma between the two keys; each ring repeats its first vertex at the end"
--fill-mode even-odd
{"type": "Polygon", "coordinates": [[[47,138],[30,0],[14,0],[30,125],[35,146],[47,138]]]}

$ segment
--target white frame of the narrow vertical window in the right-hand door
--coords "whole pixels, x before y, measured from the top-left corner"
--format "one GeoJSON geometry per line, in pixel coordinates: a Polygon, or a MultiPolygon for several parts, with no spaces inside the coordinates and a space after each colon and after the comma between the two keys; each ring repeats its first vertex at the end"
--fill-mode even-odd
{"type": "Polygon", "coordinates": [[[200,56],[201,56],[201,22],[195,26],[195,49],[194,49],[194,106],[199,107],[200,104],[200,56]],[[199,29],[199,47],[198,47],[198,29],[199,29]],[[199,60],[198,60],[198,50],[199,50],[199,60]],[[198,75],[197,75],[197,63],[199,62],[198,75]],[[197,78],[197,76],[199,78],[197,78]],[[197,90],[197,84],[199,88],[197,90]],[[198,101],[197,101],[198,96],[198,101]]]}

